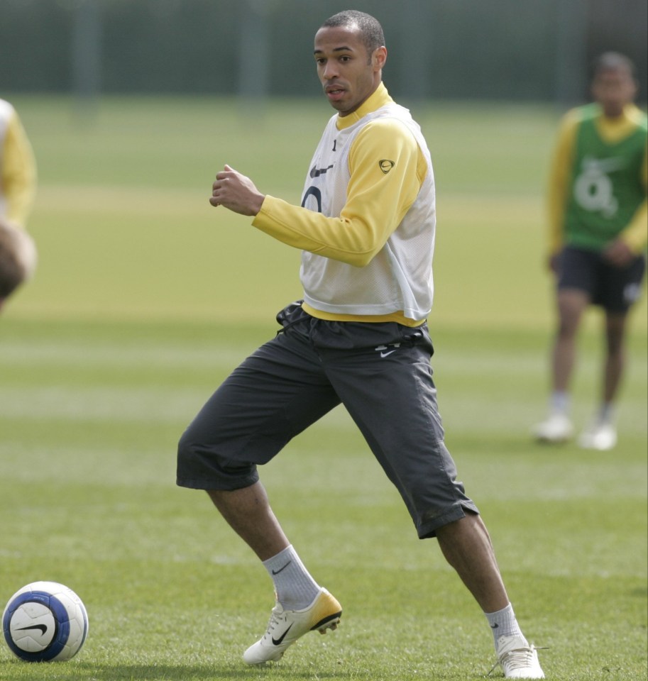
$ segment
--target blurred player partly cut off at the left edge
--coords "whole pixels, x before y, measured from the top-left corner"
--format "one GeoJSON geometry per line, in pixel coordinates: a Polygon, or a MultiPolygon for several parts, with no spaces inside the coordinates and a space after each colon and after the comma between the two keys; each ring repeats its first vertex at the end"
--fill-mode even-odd
{"type": "Polygon", "coordinates": [[[35,269],[35,246],[25,231],[35,184],[31,144],[16,109],[0,99],[0,309],[35,269]]]}

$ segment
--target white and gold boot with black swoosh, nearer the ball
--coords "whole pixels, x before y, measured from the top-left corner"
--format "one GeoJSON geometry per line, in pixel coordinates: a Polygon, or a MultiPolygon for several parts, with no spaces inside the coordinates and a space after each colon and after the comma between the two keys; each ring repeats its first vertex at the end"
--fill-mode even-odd
{"type": "Polygon", "coordinates": [[[268,629],[243,653],[243,660],[248,665],[276,662],[304,633],[336,629],[341,615],[341,605],[326,589],[320,589],[314,601],[303,610],[284,610],[278,602],[270,614],[268,629]]]}

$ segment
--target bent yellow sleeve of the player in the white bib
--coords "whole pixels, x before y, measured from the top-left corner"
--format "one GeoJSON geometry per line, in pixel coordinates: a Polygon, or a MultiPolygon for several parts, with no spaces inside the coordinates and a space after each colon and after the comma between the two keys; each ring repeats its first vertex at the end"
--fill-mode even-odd
{"type": "Polygon", "coordinates": [[[348,164],[351,179],[339,217],[266,196],[253,226],[294,248],[368,265],[416,199],[427,164],[412,133],[390,118],[368,123],[358,133],[348,164]],[[395,162],[386,174],[379,165],[385,158],[395,162]]]}

